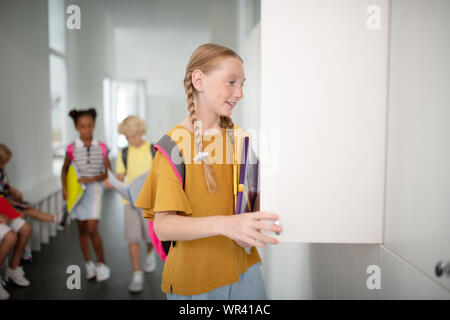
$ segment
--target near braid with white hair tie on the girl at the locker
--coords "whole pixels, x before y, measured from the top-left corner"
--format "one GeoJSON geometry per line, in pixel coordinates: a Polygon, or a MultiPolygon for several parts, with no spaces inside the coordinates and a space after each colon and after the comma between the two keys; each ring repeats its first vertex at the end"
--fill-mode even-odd
{"type": "MultiPolygon", "coordinates": [[[[200,121],[197,121],[197,114],[195,112],[195,104],[194,104],[194,88],[192,85],[192,72],[187,72],[186,77],[184,78],[184,88],[187,94],[187,103],[188,103],[188,111],[189,118],[192,121],[192,125],[194,127],[194,146],[198,152],[203,152],[202,146],[202,128],[200,121]]],[[[194,150],[194,153],[197,151],[194,150]]],[[[213,168],[210,164],[206,163],[206,161],[202,160],[203,164],[203,172],[205,174],[206,179],[206,187],[208,188],[209,193],[215,193],[218,191],[217,182],[214,176],[213,168]]]]}

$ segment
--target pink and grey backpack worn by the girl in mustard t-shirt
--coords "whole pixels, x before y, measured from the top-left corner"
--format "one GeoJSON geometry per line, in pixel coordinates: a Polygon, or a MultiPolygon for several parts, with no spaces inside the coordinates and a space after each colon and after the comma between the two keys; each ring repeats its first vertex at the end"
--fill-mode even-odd
{"type": "MultiPolygon", "coordinates": [[[[227,133],[229,134],[230,141],[234,150],[234,134],[230,134],[230,130],[227,130],[227,133]]],[[[161,152],[161,154],[167,159],[167,161],[169,161],[170,166],[172,167],[178,180],[181,183],[181,186],[184,189],[186,164],[175,141],[173,141],[170,136],[164,135],[157,143],[155,143],[152,149],[155,150],[155,153],[157,151],[161,152]]],[[[148,220],[148,233],[150,239],[152,240],[153,246],[155,247],[156,253],[158,253],[163,261],[166,261],[170,246],[172,245],[173,247],[175,247],[176,241],[160,241],[156,236],[153,221],[151,220],[148,220]]]]}

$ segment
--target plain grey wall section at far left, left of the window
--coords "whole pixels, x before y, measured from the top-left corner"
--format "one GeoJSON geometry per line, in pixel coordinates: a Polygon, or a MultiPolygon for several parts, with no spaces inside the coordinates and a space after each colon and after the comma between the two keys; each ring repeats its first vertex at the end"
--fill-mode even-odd
{"type": "Polygon", "coordinates": [[[21,190],[53,177],[47,0],[0,2],[0,143],[21,190]]]}

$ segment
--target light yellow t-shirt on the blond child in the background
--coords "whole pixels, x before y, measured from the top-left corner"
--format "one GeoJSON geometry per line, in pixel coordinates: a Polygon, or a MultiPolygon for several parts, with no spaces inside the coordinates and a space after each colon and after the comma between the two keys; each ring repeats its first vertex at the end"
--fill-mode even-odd
{"type": "MultiPolygon", "coordinates": [[[[125,184],[129,185],[134,179],[149,171],[152,165],[153,157],[150,150],[150,143],[145,141],[140,147],[132,145],[128,146],[127,168],[122,160],[122,151],[120,150],[116,159],[116,173],[124,173],[125,184]]],[[[127,200],[122,198],[122,203],[129,204],[127,200]]]]}

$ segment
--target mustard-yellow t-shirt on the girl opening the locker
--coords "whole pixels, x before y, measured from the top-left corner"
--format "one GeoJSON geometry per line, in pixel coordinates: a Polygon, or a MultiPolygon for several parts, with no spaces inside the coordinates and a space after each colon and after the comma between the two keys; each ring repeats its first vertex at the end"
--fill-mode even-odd
{"type": "MultiPolygon", "coordinates": [[[[143,217],[153,220],[155,212],[161,211],[177,211],[191,217],[234,214],[232,162],[212,164],[219,191],[211,195],[206,187],[203,165],[188,160],[194,157],[194,134],[177,125],[167,135],[177,143],[186,163],[185,187],[183,190],[167,159],[157,152],[135,204],[144,209],[143,217]]],[[[223,146],[221,156],[224,162],[226,157],[232,159],[232,148],[226,147],[231,142],[225,129],[222,129],[222,134],[204,136],[203,149],[208,150],[210,144],[215,144],[216,151],[223,146]]],[[[224,236],[177,241],[167,256],[161,289],[165,293],[171,293],[172,289],[172,293],[180,295],[205,293],[239,281],[240,275],[259,261],[261,258],[256,248],[247,254],[224,236]]]]}

